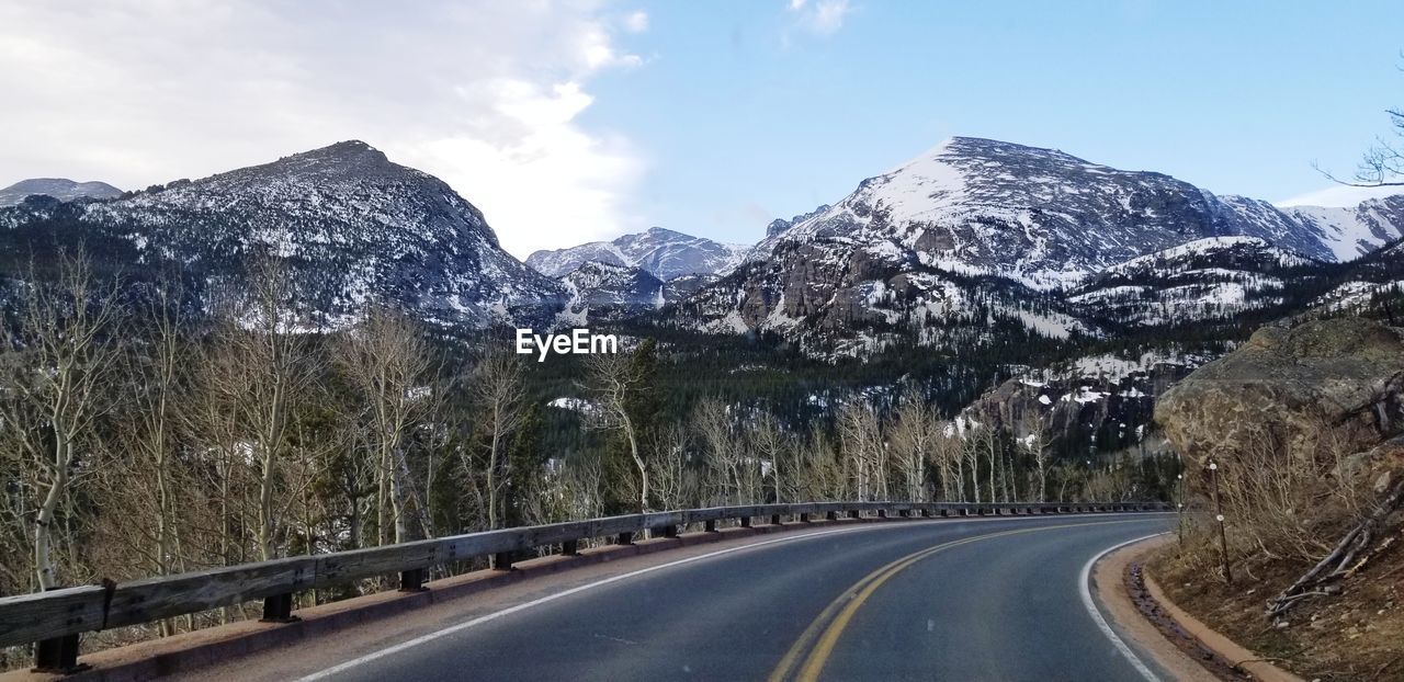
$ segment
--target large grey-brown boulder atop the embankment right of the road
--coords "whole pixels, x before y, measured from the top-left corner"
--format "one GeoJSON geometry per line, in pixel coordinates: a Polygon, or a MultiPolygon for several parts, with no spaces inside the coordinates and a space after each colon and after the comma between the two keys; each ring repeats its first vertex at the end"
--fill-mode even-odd
{"type": "Polygon", "coordinates": [[[1234,457],[1269,434],[1289,453],[1369,450],[1404,432],[1404,330],[1358,317],[1258,330],[1171,387],[1155,421],[1182,456],[1234,457]],[[1321,439],[1328,435],[1330,439],[1321,439]]]}

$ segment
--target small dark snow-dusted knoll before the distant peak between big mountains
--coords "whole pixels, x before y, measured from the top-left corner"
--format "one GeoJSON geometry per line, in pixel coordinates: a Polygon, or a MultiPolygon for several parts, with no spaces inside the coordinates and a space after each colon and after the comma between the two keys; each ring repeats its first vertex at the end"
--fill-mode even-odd
{"type": "Polygon", "coordinates": [[[585,261],[559,278],[566,285],[560,321],[584,326],[590,319],[663,307],[664,283],[644,269],[585,261]]]}

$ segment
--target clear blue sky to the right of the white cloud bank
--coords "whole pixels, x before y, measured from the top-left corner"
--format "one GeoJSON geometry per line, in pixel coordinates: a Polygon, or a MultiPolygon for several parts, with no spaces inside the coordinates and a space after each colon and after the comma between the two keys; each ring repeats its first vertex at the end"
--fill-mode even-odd
{"type": "MultiPolygon", "coordinates": [[[[814,0],[810,0],[814,1],[814,0]]],[[[581,125],[642,150],[649,225],[753,241],[951,135],[1282,201],[1404,105],[1404,3],[654,3],[581,125]],[[820,29],[824,28],[824,29],[820,29]]],[[[643,227],[637,225],[636,227],[643,227]]]]}

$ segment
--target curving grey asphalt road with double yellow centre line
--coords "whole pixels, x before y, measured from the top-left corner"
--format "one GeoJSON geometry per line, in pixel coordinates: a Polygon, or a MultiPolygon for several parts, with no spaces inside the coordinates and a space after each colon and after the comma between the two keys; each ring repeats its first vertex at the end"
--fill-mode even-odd
{"type": "Polygon", "coordinates": [[[941,519],[762,535],[526,581],[542,584],[448,602],[298,655],[268,653],[237,671],[334,681],[1147,679],[1154,664],[1118,648],[1081,585],[1092,557],[1171,519],[941,519]]]}

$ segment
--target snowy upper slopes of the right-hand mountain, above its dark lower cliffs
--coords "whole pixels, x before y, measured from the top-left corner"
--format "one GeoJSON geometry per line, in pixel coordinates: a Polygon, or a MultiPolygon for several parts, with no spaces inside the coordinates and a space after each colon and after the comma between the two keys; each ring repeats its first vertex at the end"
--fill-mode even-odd
{"type": "Polygon", "coordinates": [[[865,248],[896,247],[928,265],[1052,288],[1217,236],[1262,237],[1314,258],[1346,260],[1401,234],[1404,196],[1367,203],[1377,208],[1283,212],[1268,202],[1216,196],[1160,173],[952,138],[771,236],[753,258],[768,257],[782,243],[838,239],[865,248]],[[1307,215],[1313,219],[1300,218],[1307,215]],[[1373,220],[1370,229],[1360,226],[1365,220],[1373,220]]]}

